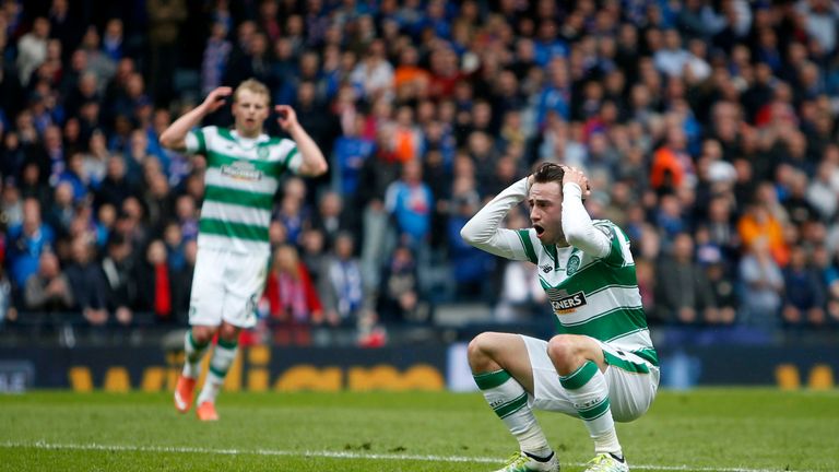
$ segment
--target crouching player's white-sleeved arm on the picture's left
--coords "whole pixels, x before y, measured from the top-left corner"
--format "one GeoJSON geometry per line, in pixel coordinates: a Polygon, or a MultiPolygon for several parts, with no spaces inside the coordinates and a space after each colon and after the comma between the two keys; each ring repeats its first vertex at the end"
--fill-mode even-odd
{"type": "Polygon", "coordinates": [[[500,247],[501,244],[498,234],[501,221],[510,209],[521,203],[527,196],[527,178],[507,187],[463,225],[460,237],[471,246],[495,253],[492,249],[500,247]]]}

